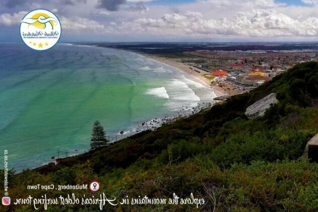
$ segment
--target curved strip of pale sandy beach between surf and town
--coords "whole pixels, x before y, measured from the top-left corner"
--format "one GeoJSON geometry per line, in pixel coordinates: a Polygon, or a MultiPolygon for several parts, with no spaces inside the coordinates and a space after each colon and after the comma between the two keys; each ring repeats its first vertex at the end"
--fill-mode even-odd
{"type": "Polygon", "coordinates": [[[158,61],[160,63],[167,64],[169,66],[172,66],[174,68],[177,68],[177,69],[185,72],[186,74],[194,77],[198,82],[211,88],[217,96],[229,95],[229,93],[224,91],[222,88],[220,88],[218,86],[211,85],[211,81],[203,76],[204,74],[207,74],[207,72],[204,72],[204,71],[197,69],[197,68],[194,68],[192,66],[188,66],[188,65],[183,64],[183,63],[178,63],[178,62],[166,59],[166,58],[161,58],[161,57],[157,57],[157,56],[153,56],[153,55],[144,55],[144,56],[151,58],[155,61],[158,61]],[[192,68],[192,69],[190,69],[190,68],[192,68]],[[196,71],[194,71],[194,70],[196,70],[196,71]]]}

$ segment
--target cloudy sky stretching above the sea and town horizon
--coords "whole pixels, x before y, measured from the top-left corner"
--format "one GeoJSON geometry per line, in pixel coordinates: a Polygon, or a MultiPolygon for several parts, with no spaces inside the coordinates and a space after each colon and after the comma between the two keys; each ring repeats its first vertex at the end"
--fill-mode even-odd
{"type": "Polygon", "coordinates": [[[0,0],[0,42],[31,10],[68,41],[318,41],[318,0],[0,0]]]}

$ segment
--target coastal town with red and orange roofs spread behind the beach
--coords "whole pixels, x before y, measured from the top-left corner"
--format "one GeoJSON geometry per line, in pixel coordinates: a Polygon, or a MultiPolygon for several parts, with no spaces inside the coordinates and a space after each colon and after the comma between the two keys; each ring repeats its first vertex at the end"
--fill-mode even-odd
{"type": "Polygon", "coordinates": [[[318,53],[311,51],[203,49],[187,51],[186,54],[206,58],[207,60],[196,68],[215,76],[215,83],[220,85],[227,83],[228,89],[232,90],[258,87],[294,64],[318,60],[318,53]],[[219,70],[215,71],[213,67],[218,67],[219,70]]]}

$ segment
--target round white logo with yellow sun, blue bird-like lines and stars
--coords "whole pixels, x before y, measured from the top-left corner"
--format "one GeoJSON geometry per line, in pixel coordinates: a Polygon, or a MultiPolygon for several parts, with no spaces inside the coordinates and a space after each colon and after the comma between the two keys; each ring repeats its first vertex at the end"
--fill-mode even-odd
{"type": "Polygon", "coordinates": [[[53,47],[61,35],[61,25],[52,12],[37,9],[25,15],[20,24],[23,42],[35,50],[53,47]]]}

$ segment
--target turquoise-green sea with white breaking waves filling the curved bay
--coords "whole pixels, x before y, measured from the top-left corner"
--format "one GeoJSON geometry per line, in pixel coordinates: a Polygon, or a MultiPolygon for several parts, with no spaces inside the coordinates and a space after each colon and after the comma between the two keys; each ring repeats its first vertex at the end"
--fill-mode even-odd
{"type": "Polygon", "coordinates": [[[183,72],[133,52],[0,44],[0,53],[0,148],[17,171],[50,162],[57,148],[68,156],[87,151],[95,120],[120,139],[145,120],[215,97],[183,72]]]}

